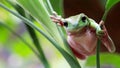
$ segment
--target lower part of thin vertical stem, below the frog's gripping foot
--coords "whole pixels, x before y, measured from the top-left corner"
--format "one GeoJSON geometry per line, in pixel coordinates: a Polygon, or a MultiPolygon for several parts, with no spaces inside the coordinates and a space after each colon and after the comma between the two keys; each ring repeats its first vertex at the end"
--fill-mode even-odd
{"type": "Polygon", "coordinates": [[[101,41],[98,39],[98,42],[97,42],[97,50],[96,50],[96,63],[97,63],[97,68],[100,68],[100,45],[101,45],[101,41]]]}

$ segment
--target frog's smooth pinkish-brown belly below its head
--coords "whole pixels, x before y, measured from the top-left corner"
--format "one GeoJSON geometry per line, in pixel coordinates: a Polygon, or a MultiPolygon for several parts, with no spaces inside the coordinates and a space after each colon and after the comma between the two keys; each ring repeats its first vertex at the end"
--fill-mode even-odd
{"type": "Polygon", "coordinates": [[[94,32],[87,30],[80,35],[68,35],[67,41],[71,48],[79,54],[89,56],[95,53],[97,37],[94,32]]]}

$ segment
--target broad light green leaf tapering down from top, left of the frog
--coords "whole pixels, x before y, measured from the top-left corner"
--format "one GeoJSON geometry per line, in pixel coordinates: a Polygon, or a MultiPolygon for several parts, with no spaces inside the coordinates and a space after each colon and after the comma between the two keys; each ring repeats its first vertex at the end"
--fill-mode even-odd
{"type": "Polygon", "coordinates": [[[50,33],[52,38],[57,40],[58,43],[61,43],[57,27],[51,21],[43,0],[17,0],[17,2],[50,33]]]}

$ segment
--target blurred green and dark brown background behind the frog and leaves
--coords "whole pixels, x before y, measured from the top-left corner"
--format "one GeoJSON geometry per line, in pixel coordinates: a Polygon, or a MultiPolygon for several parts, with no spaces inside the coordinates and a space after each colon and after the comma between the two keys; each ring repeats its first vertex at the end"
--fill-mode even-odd
{"type": "MultiPolygon", "coordinates": [[[[5,2],[5,0],[0,0],[0,2],[6,4],[10,9],[13,9],[5,2]]],[[[61,10],[56,8],[57,0],[51,0],[54,9],[58,12],[58,14],[64,14],[64,17],[85,13],[97,22],[99,22],[102,18],[105,2],[106,0],[64,0],[64,13],[62,13],[61,10]]],[[[0,8],[0,21],[5,22],[30,45],[33,45],[28,31],[20,19],[0,8]]],[[[111,54],[108,53],[105,47],[102,46],[102,53],[100,56],[101,68],[120,68],[119,22],[120,3],[112,8],[106,19],[106,27],[116,44],[117,50],[116,53],[111,54]]],[[[39,33],[37,33],[37,36],[40,37],[39,41],[42,44],[42,48],[51,65],[51,68],[70,68],[58,50],[51,46],[51,43],[49,43],[39,33]]],[[[96,58],[95,56],[88,57],[87,60],[80,60],[80,64],[84,68],[95,68],[96,58]]],[[[3,26],[0,26],[0,68],[44,68],[44,66],[41,64],[41,61],[38,60],[36,55],[26,46],[26,44],[24,44],[11,31],[3,26]]]]}

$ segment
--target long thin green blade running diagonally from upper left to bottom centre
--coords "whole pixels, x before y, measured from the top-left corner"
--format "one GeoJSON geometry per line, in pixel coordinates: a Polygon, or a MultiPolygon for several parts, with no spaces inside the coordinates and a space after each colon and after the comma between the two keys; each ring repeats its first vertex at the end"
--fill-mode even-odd
{"type": "Polygon", "coordinates": [[[53,38],[49,37],[46,33],[44,33],[40,28],[38,28],[35,24],[33,24],[30,20],[24,18],[23,16],[11,11],[8,7],[0,3],[0,7],[4,8],[5,10],[9,11],[13,15],[17,16],[21,20],[23,20],[26,24],[28,24],[30,27],[36,29],[38,32],[40,32],[45,38],[47,38],[64,56],[66,61],[70,64],[72,68],[81,68],[79,63],[69,54],[67,53],[63,48],[60,47],[60,44],[56,42],[53,38]]]}

